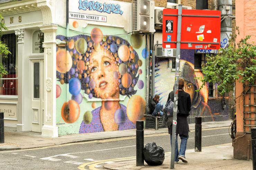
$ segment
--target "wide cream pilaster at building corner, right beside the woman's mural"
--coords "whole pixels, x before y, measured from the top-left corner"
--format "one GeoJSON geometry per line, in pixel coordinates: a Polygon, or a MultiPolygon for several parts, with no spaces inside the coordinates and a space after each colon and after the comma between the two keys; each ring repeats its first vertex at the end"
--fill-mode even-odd
{"type": "Polygon", "coordinates": [[[56,126],[56,31],[57,25],[40,27],[44,33],[44,125],[42,135],[58,137],[56,126]]]}

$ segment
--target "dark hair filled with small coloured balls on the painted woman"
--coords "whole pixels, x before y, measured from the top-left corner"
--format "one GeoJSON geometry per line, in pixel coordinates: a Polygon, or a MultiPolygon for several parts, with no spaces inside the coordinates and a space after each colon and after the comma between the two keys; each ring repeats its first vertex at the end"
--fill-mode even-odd
{"type": "MultiPolygon", "coordinates": [[[[138,60],[139,60],[139,56],[137,54],[137,52],[132,48],[132,46],[128,43],[127,40],[122,39],[118,36],[106,36],[106,40],[105,41],[101,41],[100,42],[100,46],[104,48],[104,50],[106,50],[107,52],[109,52],[111,54],[111,56],[113,58],[115,58],[115,62],[117,64],[117,66],[119,67],[120,64],[124,63],[127,66],[127,73],[130,74],[131,76],[131,85],[128,88],[125,88],[124,86],[122,86],[121,80],[122,80],[122,76],[120,79],[118,79],[119,81],[119,93],[121,95],[127,95],[128,97],[135,94],[137,92],[137,90],[134,90],[135,85],[138,82],[139,79],[139,74],[136,77],[136,74],[139,70],[139,64],[138,64],[138,60]],[[114,44],[113,46],[115,46],[116,48],[112,48],[111,45],[114,44]],[[133,53],[134,58],[131,59],[129,57],[129,60],[127,61],[122,61],[119,56],[118,56],[118,49],[119,47],[121,47],[122,45],[126,45],[128,47],[128,49],[130,49],[130,53],[133,53]]],[[[79,53],[77,50],[75,49],[68,49],[68,51],[71,51],[71,57],[72,57],[72,70],[75,71],[68,71],[66,74],[64,73],[64,77],[63,75],[61,76],[61,73],[56,71],[56,77],[59,81],[64,80],[64,83],[68,83],[70,79],[72,78],[77,78],[80,80],[81,82],[81,89],[85,91],[86,94],[90,94],[91,96],[97,98],[94,89],[92,89],[90,87],[90,81],[91,81],[91,77],[90,77],[90,70],[89,67],[86,67],[86,70],[83,70],[83,73],[80,73],[79,70],[77,70],[77,60],[83,60],[85,62],[85,66],[87,66],[86,62],[89,62],[90,60],[90,56],[95,52],[96,49],[94,49],[94,42],[91,38],[91,36],[86,36],[86,35],[77,35],[74,37],[68,37],[68,42],[70,41],[74,41],[74,43],[76,43],[76,41],[78,39],[84,39],[87,42],[87,46],[88,49],[85,51],[85,53],[79,53]],[[89,45],[90,44],[90,45],[89,45]],[[89,56],[89,55],[90,56],[89,56]],[[81,55],[82,58],[78,58],[77,56],[81,55]],[[88,55],[88,56],[87,56],[88,55]],[[78,76],[80,74],[80,77],[78,76]],[[86,76],[86,77],[85,77],[86,76]]],[[[58,35],[56,36],[56,39],[60,39],[61,41],[65,41],[66,37],[62,36],[62,35],[58,35]]],[[[75,46],[76,47],[76,46],[75,46]]],[[[58,49],[57,49],[58,50],[58,49]]],[[[89,96],[90,96],[89,95],[89,96]]]]}

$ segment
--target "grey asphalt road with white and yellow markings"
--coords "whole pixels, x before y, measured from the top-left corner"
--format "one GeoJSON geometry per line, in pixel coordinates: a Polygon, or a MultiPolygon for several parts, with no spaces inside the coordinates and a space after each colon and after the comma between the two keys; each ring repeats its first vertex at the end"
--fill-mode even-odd
{"type": "MultiPolygon", "coordinates": [[[[228,127],[203,129],[202,147],[231,143],[232,140],[228,133],[228,127]]],[[[189,135],[187,149],[193,149],[194,131],[191,131],[189,135]]],[[[158,133],[144,136],[144,144],[153,141],[157,146],[163,147],[165,153],[171,151],[169,134],[158,133]]],[[[0,151],[0,169],[73,170],[78,167],[79,169],[103,169],[102,166],[106,163],[134,161],[135,156],[136,137],[124,137],[36,149],[0,151]]]]}

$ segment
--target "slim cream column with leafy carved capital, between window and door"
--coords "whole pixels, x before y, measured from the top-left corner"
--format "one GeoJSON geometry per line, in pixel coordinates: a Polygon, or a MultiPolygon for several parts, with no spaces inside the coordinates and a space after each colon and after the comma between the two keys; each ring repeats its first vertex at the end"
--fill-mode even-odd
{"type": "Polygon", "coordinates": [[[18,114],[17,131],[24,131],[24,29],[15,30],[18,36],[18,114]]]}

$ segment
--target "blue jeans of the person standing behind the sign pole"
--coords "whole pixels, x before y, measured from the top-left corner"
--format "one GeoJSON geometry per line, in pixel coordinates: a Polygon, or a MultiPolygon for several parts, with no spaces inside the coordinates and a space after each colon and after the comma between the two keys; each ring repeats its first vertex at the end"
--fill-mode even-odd
{"type": "MultiPolygon", "coordinates": [[[[171,136],[171,146],[172,146],[172,135],[171,136]]],[[[187,148],[187,142],[189,139],[189,136],[185,136],[180,134],[180,138],[181,138],[181,147],[180,147],[180,152],[179,152],[179,148],[178,148],[178,135],[176,135],[176,140],[175,140],[175,159],[174,161],[179,161],[178,157],[179,156],[183,156],[185,157],[185,151],[187,148]]]]}

